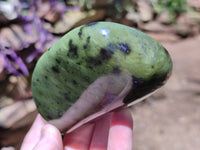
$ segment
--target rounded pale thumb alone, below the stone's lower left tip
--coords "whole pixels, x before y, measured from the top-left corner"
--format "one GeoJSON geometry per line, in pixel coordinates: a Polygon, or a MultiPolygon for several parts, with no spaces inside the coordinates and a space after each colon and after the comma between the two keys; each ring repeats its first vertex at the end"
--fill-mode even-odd
{"type": "Polygon", "coordinates": [[[33,150],[63,150],[62,138],[59,130],[47,124],[41,130],[41,137],[33,150]]]}

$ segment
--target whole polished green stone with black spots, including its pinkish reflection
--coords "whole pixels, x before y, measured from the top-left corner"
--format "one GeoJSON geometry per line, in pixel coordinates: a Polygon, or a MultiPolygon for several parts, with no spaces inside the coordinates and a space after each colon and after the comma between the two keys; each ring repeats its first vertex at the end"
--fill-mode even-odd
{"type": "Polygon", "coordinates": [[[41,56],[32,92],[39,113],[68,130],[152,93],[171,69],[169,53],[145,33],[93,22],[68,32],[41,56]]]}

